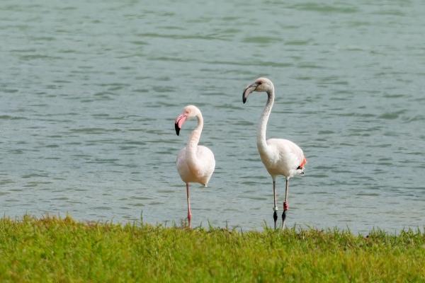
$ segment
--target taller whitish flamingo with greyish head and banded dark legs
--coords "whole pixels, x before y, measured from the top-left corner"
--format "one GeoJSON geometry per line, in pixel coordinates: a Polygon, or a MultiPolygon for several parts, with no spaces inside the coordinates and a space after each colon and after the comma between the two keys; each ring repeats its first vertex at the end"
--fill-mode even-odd
{"type": "Polygon", "coordinates": [[[273,108],[274,102],[274,86],[271,80],[266,78],[259,78],[254,83],[249,84],[242,93],[242,102],[246,103],[249,93],[253,91],[266,92],[267,103],[264,107],[263,114],[261,114],[259,127],[257,128],[256,144],[261,161],[263,161],[268,173],[273,179],[273,220],[274,228],[276,229],[276,221],[278,220],[278,207],[276,206],[276,177],[283,175],[286,178],[285,185],[285,201],[283,202],[282,213],[282,229],[285,228],[286,211],[289,209],[288,203],[288,188],[289,179],[295,175],[304,175],[304,166],[307,163],[304,153],[300,146],[288,141],[288,139],[267,139],[266,140],[266,127],[268,117],[273,108]]]}

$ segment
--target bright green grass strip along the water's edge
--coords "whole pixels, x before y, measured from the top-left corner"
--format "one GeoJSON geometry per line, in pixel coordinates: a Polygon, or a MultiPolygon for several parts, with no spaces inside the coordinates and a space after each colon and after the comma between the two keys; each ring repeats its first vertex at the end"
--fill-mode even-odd
{"type": "Polygon", "coordinates": [[[425,233],[4,218],[0,282],[425,282],[425,233]]]}

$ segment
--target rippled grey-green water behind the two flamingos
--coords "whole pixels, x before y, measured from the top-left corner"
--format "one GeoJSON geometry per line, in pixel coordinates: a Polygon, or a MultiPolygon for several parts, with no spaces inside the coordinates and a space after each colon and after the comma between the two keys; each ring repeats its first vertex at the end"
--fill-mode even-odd
{"type": "MultiPolygon", "coordinates": [[[[186,191],[174,118],[203,111],[217,166],[193,185],[193,224],[273,223],[256,150],[300,144],[288,225],[367,233],[424,227],[422,1],[1,1],[0,213],[180,223],[186,191]]],[[[278,179],[279,203],[284,179],[278,179]]]]}

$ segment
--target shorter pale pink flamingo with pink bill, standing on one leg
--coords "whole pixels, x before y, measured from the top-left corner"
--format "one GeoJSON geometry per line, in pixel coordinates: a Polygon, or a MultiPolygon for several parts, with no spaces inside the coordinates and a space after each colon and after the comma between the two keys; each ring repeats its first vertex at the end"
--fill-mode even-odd
{"type": "Polygon", "coordinates": [[[193,117],[198,119],[198,125],[193,129],[186,147],[180,150],[176,160],[177,171],[179,171],[181,180],[186,183],[189,228],[191,228],[192,219],[189,183],[200,183],[206,187],[215,168],[215,158],[212,151],[206,146],[198,146],[203,128],[203,117],[199,108],[194,105],[187,105],[183,109],[183,112],[176,117],[174,124],[176,134],[179,135],[183,123],[193,117]]]}

